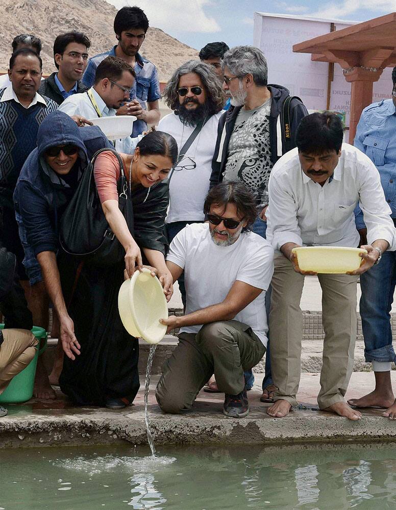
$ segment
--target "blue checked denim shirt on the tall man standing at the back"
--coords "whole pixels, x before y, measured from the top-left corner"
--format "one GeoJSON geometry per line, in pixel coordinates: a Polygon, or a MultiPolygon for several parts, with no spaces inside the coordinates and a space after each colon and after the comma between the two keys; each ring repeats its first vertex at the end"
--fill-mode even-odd
{"type": "MultiPolygon", "coordinates": [[[[88,60],[87,68],[85,69],[82,82],[86,87],[92,87],[95,81],[95,74],[97,66],[106,57],[116,57],[114,46],[109,52],[101,53],[88,60]]],[[[136,54],[136,63],[134,67],[136,79],[133,84],[130,101],[137,99],[144,110],[147,110],[147,102],[157,101],[161,97],[160,84],[158,81],[158,73],[156,66],[145,59],[139,53],[136,54]]],[[[137,137],[143,131],[146,131],[147,124],[144,120],[135,120],[133,123],[132,138],[137,137]]]]}

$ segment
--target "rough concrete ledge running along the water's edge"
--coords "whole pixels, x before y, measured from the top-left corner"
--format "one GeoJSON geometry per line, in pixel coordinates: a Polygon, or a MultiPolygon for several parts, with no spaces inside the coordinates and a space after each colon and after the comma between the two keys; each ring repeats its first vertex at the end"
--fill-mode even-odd
{"type": "MultiPolygon", "coordinates": [[[[151,409],[151,424],[158,445],[396,440],[396,423],[372,413],[364,413],[358,422],[309,410],[275,419],[265,413],[265,406],[252,408],[249,417],[239,420],[222,416],[221,405],[208,413],[198,404],[184,416],[151,409]]],[[[0,438],[2,447],[147,443],[142,406],[128,412],[96,411],[94,416],[82,410],[79,415],[62,418],[31,416],[21,421],[5,417],[0,421],[0,438]]]]}

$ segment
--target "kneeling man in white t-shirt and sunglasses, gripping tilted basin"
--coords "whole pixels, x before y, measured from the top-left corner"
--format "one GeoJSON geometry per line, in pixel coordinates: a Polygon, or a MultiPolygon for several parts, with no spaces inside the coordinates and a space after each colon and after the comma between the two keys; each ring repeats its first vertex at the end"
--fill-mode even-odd
{"type": "Polygon", "coordinates": [[[209,223],[188,225],[170,244],[166,265],[174,281],[184,270],[186,313],[161,319],[180,328],[179,344],[165,361],[156,390],[166,413],[191,409],[214,373],[226,394],[223,412],[249,412],[244,370],[262,359],[267,343],[265,292],[274,250],[248,229],[257,216],[252,193],[240,182],[221,183],[206,197],[209,223]]]}

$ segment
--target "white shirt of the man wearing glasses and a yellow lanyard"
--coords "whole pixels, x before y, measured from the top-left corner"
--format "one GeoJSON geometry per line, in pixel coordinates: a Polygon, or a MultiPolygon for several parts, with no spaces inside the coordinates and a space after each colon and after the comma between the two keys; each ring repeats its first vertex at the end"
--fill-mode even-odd
{"type": "MultiPolygon", "coordinates": [[[[108,108],[102,97],[91,87],[90,91],[95,98],[97,107],[102,114],[102,117],[113,117],[116,114],[116,110],[108,108]]],[[[92,105],[91,100],[86,92],[82,94],[73,94],[63,101],[59,106],[60,112],[67,113],[72,117],[73,115],[81,115],[86,119],[94,119],[97,117],[95,107],[92,105]]],[[[141,138],[141,137],[140,137],[141,138]]],[[[127,136],[119,140],[115,140],[115,148],[118,152],[124,152],[125,154],[132,154],[136,148],[138,139],[127,136]]]]}

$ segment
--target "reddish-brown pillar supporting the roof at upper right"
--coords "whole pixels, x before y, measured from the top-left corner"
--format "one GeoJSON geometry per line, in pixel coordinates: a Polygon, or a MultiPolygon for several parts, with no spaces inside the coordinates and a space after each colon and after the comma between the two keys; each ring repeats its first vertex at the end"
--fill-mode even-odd
{"type": "Polygon", "coordinates": [[[380,79],[382,69],[370,71],[361,67],[354,67],[345,74],[345,80],[352,83],[351,113],[349,118],[349,143],[353,144],[356,126],[363,109],[373,102],[373,83],[380,79]]]}

